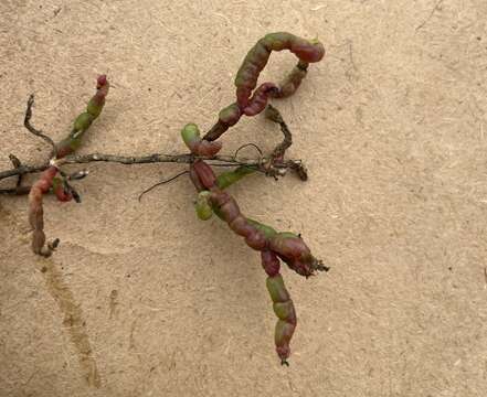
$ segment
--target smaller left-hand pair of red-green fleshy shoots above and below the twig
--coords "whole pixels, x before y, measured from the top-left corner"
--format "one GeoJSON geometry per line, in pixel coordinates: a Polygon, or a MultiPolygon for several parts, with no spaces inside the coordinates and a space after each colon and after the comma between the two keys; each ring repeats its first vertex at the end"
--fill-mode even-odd
{"type": "MultiPolygon", "coordinates": [[[[105,75],[97,79],[96,94],[88,101],[86,111],[82,112],[74,121],[70,135],[61,142],[55,144],[55,159],[61,159],[67,154],[73,153],[81,144],[84,132],[89,128],[92,122],[102,112],[105,105],[105,97],[108,94],[108,81],[105,75]]],[[[33,229],[32,250],[42,256],[50,256],[52,250],[57,246],[59,240],[54,240],[45,246],[44,234],[44,211],[42,206],[42,197],[45,193],[52,190],[57,200],[67,202],[73,198],[73,193],[64,179],[56,178],[59,169],[55,165],[47,168],[40,176],[40,179],[32,185],[29,193],[29,223],[33,229]]]]}

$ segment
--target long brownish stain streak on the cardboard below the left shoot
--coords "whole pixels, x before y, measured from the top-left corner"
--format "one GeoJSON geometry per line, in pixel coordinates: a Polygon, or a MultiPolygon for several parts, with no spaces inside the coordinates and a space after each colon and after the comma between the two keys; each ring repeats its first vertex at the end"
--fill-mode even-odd
{"type": "Polygon", "coordinates": [[[102,379],[98,374],[92,345],[86,333],[86,322],[83,320],[81,305],[75,301],[73,292],[63,280],[63,273],[54,262],[45,265],[43,272],[47,291],[57,302],[61,313],[64,315],[63,325],[70,334],[80,360],[80,366],[84,378],[92,387],[100,387],[102,379]]]}

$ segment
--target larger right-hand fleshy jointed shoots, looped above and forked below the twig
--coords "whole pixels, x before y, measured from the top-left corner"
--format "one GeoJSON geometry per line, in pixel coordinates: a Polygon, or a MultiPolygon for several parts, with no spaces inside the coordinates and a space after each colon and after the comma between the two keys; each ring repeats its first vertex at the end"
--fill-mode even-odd
{"type": "MultiPolygon", "coordinates": [[[[269,164],[283,162],[286,150],[293,143],[293,137],[279,111],[267,105],[267,100],[269,97],[283,98],[294,94],[306,76],[309,63],[320,61],[324,54],[325,49],[318,41],[307,41],[289,33],[272,33],[261,39],[245,56],[236,74],[236,101],[220,111],[218,122],[203,139],[200,138],[195,125],[187,125],[182,129],[182,139],[191,153],[215,155],[221,149],[221,144],[216,144],[219,142],[215,140],[235,125],[242,115],[255,116],[266,109],[266,117],[278,124],[284,135],[283,142],[271,155],[269,164]],[[271,52],[282,50],[293,52],[299,58],[298,64],[280,86],[263,83],[256,88],[258,75],[267,64],[271,52]]],[[[297,167],[296,170],[303,180],[307,179],[303,167],[297,167]]],[[[273,301],[274,313],[278,319],[275,329],[276,352],[282,364],[288,365],[289,342],[297,320],[294,303],[279,273],[279,259],[305,277],[328,268],[311,255],[299,235],[289,232],[279,233],[241,213],[236,201],[224,189],[254,171],[255,169],[248,167],[240,167],[216,176],[203,159],[198,159],[190,167],[190,178],[199,192],[195,203],[199,218],[209,219],[212,213],[215,213],[235,234],[244,237],[252,249],[261,251],[262,265],[268,276],[267,290],[273,301]]]]}

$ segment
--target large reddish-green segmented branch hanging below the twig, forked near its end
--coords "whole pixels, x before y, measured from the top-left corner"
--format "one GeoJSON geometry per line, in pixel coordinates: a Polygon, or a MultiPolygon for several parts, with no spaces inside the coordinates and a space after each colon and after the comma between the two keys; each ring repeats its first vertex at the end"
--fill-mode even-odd
{"type": "MultiPolygon", "coordinates": [[[[197,149],[195,149],[197,150],[197,149]]],[[[203,160],[191,164],[190,176],[200,192],[197,201],[197,214],[201,219],[208,219],[211,211],[252,249],[261,251],[262,264],[267,272],[267,289],[273,300],[274,312],[278,318],[275,329],[275,345],[282,364],[287,364],[290,354],[289,342],[296,329],[296,312],[282,276],[279,275],[279,258],[289,268],[303,276],[310,276],[316,270],[324,270],[303,239],[293,233],[278,233],[271,226],[245,217],[233,196],[222,187],[239,181],[246,173],[235,170],[220,179],[203,160]]]]}

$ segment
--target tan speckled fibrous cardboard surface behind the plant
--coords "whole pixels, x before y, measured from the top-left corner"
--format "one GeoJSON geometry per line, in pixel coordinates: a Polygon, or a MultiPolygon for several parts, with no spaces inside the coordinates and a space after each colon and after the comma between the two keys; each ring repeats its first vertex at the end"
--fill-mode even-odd
{"type": "MultiPolygon", "coordinates": [[[[49,152],[22,127],[30,93],[60,139],[105,72],[82,152],[180,152],[181,126],[211,127],[258,37],[318,35],[326,58],[276,105],[309,182],[232,192],[332,270],[284,270],[299,323],[280,367],[258,255],[195,219],[187,179],[137,201],[181,165],[87,167],[82,205],[45,200],[49,260],[29,249],[25,197],[0,197],[0,395],[485,395],[486,17],[483,0],[2,0],[1,169],[49,152]]],[[[265,76],[294,63],[274,54],[265,76]]],[[[224,152],[278,139],[247,118],[224,152]]]]}

